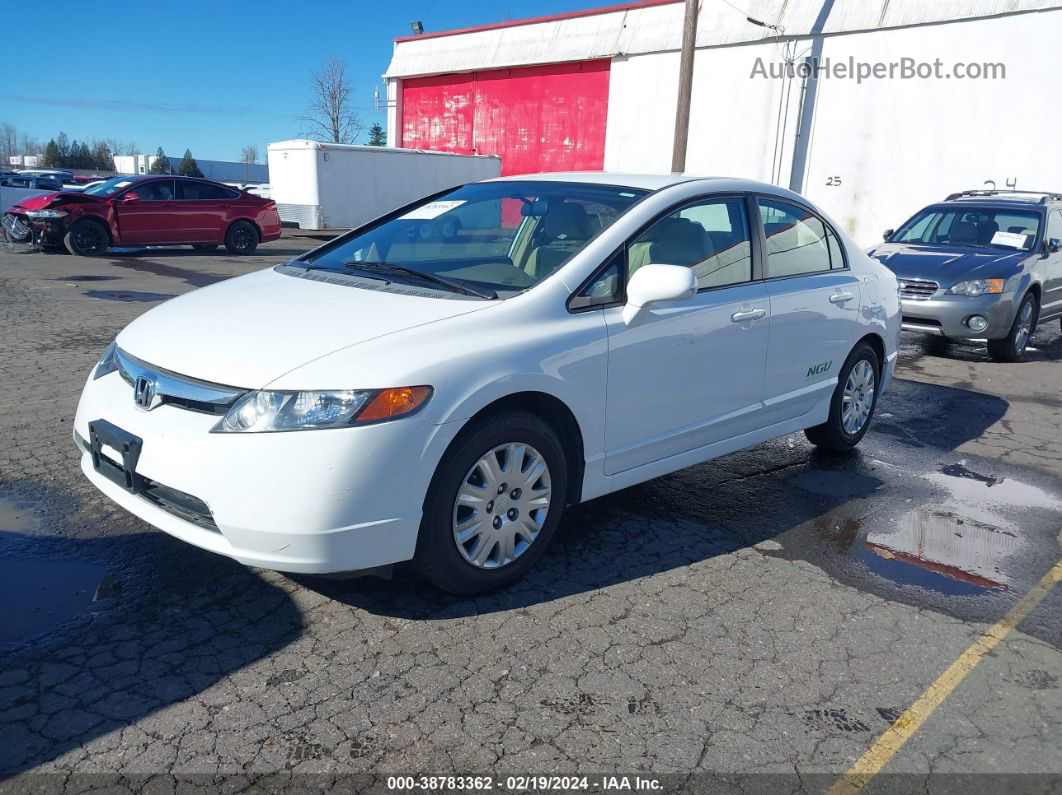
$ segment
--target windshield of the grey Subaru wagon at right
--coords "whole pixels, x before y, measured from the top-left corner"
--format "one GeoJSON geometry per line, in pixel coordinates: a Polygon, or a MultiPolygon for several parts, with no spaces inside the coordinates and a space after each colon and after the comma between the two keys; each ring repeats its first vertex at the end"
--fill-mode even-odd
{"type": "Polygon", "coordinates": [[[991,207],[929,207],[889,238],[893,243],[998,246],[1030,250],[1040,230],[1040,215],[991,207]]]}

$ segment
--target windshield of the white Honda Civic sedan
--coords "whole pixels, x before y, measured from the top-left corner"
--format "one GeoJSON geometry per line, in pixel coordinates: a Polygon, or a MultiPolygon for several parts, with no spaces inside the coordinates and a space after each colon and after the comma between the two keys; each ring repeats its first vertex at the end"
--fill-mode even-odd
{"type": "Polygon", "coordinates": [[[371,225],[308,260],[314,267],[364,269],[375,278],[416,281],[425,274],[425,281],[438,277],[435,287],[446,279],[512,294],[561,267],[645,193],[581,183],[477,183],[371,225]]]}

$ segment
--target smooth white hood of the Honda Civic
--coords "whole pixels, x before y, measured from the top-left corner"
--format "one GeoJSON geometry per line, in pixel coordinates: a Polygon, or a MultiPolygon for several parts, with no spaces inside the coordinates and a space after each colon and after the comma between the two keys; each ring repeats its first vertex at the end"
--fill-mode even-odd
{"type": "Polygon", "coordinates": [[[355,287],[344,274],[298,274],[270,269],[186,293],[126,326],[118,346],[184,376],[261,388],[328,353],[494,304],[397,283],[374,289],[377,280],[355,287]]]}

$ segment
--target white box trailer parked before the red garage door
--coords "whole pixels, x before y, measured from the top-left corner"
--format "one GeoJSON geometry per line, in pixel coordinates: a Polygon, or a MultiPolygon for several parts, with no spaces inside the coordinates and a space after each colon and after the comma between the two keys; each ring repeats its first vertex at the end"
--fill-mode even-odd
{"type": "Polygon", "coordinates": [[[269,144],[280,220],[303,229],[350,229],[389,210],[501,173],[496,155],[291,140],[269,144]]]}

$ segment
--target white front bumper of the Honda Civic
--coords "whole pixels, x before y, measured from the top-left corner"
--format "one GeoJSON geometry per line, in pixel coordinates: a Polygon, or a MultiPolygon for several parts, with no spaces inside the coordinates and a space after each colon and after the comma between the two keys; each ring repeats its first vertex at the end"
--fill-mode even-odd
{"type": "Polygon", "coordinates": [[[331,430],[210,433],[219,419],[170,404],[143,411],[117,373],[89,377],[74,419],[82,471],[148,523],[247,566],[331,573],[413,556],[447,426],[414,415],[331,430]],[[166,491],[133,494],[93,468],[82,445],[97,419],[142,439],[136,472],[166,491]],[[190,513],[175,509],[174,499],[190,513]]]}

